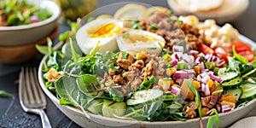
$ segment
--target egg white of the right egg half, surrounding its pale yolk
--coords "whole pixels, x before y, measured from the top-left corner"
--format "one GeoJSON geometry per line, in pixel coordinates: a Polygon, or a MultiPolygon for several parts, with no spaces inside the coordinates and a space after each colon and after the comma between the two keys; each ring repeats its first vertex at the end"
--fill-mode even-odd
{"type": "Polygon", "coordinates": [[[120,51],[126,51],[131,53],[132,55],[136,55],[139,52],[146,52],[149,54],[159,55],[162,51],[162,47],[165,46],[165,39],[159,35],[156,35],[153,32],[147,32],[143,30],[131,30],[129,32],[130,36],[133,34],[139,35],[148,35],[155,38],[155,41],[141,42],[137,41],[135,44],[131,44],[125,41],[123,35],[119,35],[117,37],[118,47],[120,51]]]}

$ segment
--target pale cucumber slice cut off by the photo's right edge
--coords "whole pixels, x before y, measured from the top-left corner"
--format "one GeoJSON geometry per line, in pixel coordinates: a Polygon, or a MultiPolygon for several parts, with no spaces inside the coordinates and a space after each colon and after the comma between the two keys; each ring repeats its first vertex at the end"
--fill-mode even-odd
{"type": "Polygon", "coordinates": [[[242,95],[240,100],[242,102],[251,101],[256,97],[256,84],[245,83],[240,85],[242,90],[242,95]]]}

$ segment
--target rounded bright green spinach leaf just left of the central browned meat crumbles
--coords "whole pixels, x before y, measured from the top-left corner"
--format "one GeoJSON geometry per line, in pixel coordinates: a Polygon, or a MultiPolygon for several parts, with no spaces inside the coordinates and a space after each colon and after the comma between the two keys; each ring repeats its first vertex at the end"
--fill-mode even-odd
{"type": "Polygon", "coordinates": [[[103,91],[97,91],[104,88],[104,86],[99,84],[96,76],[84,74],[77,78],[76,83],[79,85],[79,90],[86,96],[96,98],[103,94],[103,91]]]}

